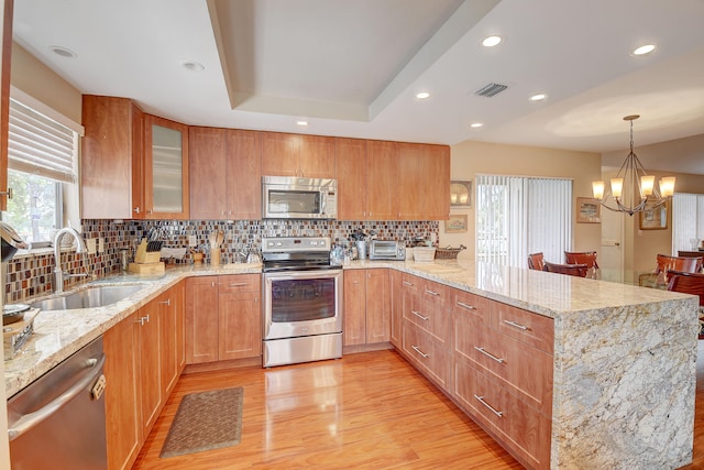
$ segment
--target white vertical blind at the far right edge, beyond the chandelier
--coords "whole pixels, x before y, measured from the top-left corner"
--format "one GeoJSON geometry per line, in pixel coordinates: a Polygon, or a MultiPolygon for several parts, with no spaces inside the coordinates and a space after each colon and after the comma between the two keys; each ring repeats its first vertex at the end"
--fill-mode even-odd
{"type": "Polygon", "coordinates": [[[691,251],[704,239],[704,195],[672,196],[672,254],[691,251]]]}

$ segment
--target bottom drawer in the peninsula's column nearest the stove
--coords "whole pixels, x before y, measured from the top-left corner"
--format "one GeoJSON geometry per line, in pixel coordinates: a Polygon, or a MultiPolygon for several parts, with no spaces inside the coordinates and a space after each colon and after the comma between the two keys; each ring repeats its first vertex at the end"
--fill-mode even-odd
{"type": "Polygon", "coordinates": [[[449,353],[446,346],[416,324],[404,320],[403,349],[428,378],[448,389],[449,353]]]}

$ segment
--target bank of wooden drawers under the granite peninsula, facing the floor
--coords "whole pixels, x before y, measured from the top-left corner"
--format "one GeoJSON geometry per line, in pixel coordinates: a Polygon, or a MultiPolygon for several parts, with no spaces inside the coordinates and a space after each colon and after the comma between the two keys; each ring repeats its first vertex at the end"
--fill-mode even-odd
{"type": "Polygon", "coordinates": [[[553,320],[411,274],[392,280],[397,350],[524,466],[550,468],[553,320]]]}

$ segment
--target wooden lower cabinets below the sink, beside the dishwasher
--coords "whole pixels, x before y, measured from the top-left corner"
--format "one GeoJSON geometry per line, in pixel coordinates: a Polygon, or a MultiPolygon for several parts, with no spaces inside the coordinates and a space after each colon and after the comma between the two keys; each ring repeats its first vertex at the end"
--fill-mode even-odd
{"type": "Polygon", "coordinates": [[[183,285],[103,335],[108,468],[129,469],[184,368],[183,285]]]}

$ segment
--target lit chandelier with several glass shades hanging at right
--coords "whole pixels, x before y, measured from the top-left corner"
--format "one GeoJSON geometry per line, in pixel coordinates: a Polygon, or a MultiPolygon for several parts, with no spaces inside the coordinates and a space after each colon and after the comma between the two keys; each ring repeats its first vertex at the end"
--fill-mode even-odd
{"type": "Polygon", "coordinates": [[[626,116],[624,121],[630,122],[630,152],[620,165],[615,178],[612,178],[610,192],[604,194],[604,182],[593,182],[594,199],[602,206],[615,212],[626,212],[632,216],[662,206],[674,194],[674,176],[660,178],[660,190],[656,187],[656,177],[648,175],[640,160],[634,153],[634,120],[638,114],[626,116]],[[607,204],[612,196],[615,206],[607,204]]]}

